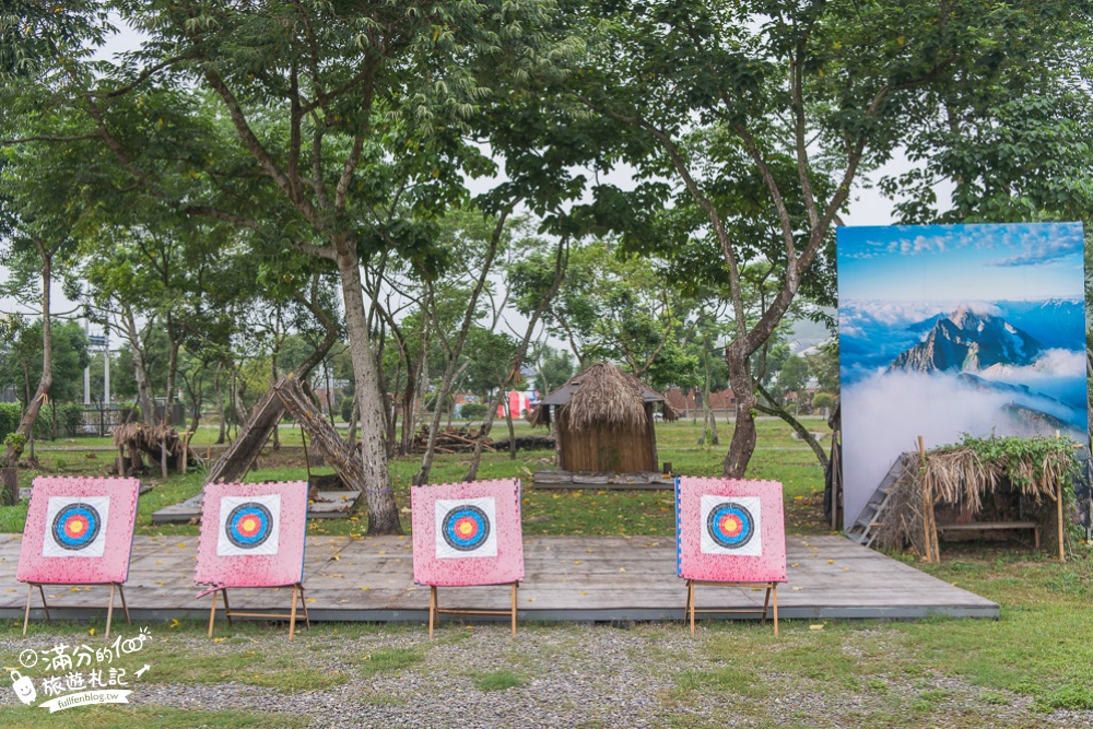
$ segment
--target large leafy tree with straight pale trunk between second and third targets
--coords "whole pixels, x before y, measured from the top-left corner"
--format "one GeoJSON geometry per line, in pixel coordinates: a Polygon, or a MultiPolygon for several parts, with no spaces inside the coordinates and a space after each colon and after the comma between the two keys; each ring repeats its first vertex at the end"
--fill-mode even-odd
{"type": "MultiPolygon", "coordinates": [[[[138,62],[92,70],[58,56],[52,66],[69,81],[50,101],[68,104],[82,120],[79,136],[113,154],[114,191],[139,189],[337,269],[373,484],[368,531],[400,532],[361,266],[385,251],[425,271],[435,263],[431,220],[465,197],[463,171],[493,169],[463,139],[467,120],[491,92],[549,72],[566,52],[566,38],[542,32],[553,5],[117,7],[149,36],[130,58],[138,62]],[[149,154],[149,140],[156,152],[171,140],[178,153],[149,154]],[[160,165],[172,164],[179,174],[162,175],[160,165]]],[[[64,139],[49,129],[33,136],[64,139]]]]}

